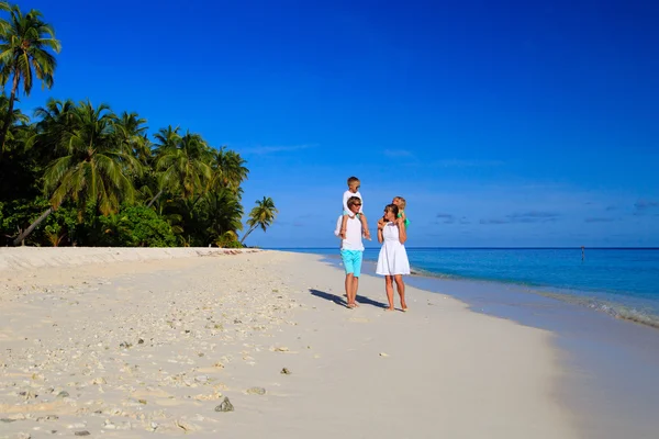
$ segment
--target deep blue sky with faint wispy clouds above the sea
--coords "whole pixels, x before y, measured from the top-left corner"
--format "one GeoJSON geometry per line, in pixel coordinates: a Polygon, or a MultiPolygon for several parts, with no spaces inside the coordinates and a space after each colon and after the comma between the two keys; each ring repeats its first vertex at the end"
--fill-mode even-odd
{"type": "MultiPolygon", "coordinates": [[[[249,245],[332,247],[346,179],[409,246],[659,246],[659,3],[21,1],[48,97],[136,111],[248,160],[249,245]]],[[[370,245],[377,246],[376,243],[370,245]]]]}

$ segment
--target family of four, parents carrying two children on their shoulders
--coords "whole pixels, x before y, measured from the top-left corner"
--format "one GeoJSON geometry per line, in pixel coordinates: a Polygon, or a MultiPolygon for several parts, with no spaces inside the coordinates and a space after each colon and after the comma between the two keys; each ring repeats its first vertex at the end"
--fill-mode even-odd
{"type": "MultiPolygon", "coordinates": [[[[364,256],[361,238],[371,239],[359,187],[360,182],[357,177],[348,179],[348,190],[344,192],[343,196],[343,213],[336,222],[334,232],[340,238],[340,257],[346,271],[345,286],[348,308],[359,306],[356,297],[364,256]]],[[[384,206],[384,214],[378,221],[378,243],[382,244],[382,248],[378,256],[376,273],[384,275],[384,289],[389,302],[386,311],[394,311],[394,283],[401,300],[401,309],[407,311],[403,274],[410,274],[410,261],[404,245],[407,239],[410,221],[405,216],[404,209],[405,199],[394,196],[391,204],[384,206]]]]}

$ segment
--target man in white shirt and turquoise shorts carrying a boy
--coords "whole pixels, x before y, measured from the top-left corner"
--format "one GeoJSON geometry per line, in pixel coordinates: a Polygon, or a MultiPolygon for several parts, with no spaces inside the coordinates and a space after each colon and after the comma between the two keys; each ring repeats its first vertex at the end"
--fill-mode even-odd
{"type": "MultiPolygon", "coordinates": [[[[361,243],[362,226],[359,218],[361,199],[350,196],[347,202],[349,215],[346,219],[345,238],[340,240],[340,258],[346,270],[346,296],[347,306],[354,308],[357,305],[357,289],[359,288],[359,275],[361,274],[361,259],[364,256],[364,244],[361,243]]],[[[338,217],[334,235],[340,237],[344,215],[338,217]]]]}

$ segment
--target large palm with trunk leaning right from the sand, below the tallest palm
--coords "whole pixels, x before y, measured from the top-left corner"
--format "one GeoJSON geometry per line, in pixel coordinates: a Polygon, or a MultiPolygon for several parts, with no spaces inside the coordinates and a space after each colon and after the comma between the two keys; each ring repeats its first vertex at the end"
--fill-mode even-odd
{"type": "Polygon", "coordinates": [[[116,116],[108,105],[93,108],[89,101],[80,102],[72,114],[72,128],[63,133],[57,145],[65,154],[54,159],[44,173],[51,207],[14,239],[14,245],[21,244],[65,200],[78,204],[79,216],[88,204],[110,215],[119,211],[121,202],[133,201],[131,177],[139,175],[142,167],[122,148],[114,131],[116,116]]]}

